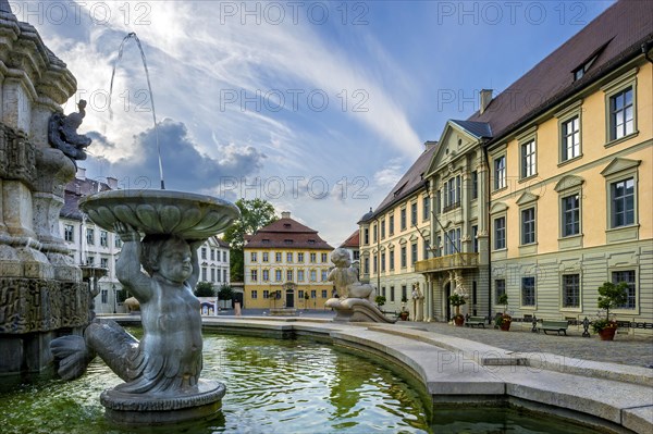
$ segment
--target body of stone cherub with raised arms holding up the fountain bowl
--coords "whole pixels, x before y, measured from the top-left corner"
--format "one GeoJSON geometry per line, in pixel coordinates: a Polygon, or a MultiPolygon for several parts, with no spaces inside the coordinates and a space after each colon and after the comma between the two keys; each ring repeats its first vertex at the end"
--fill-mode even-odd
{"type": "Polygon", "coordinates": [[[199,277],[197,248],[173,235],[147,235],[115,224],[124,245],[116,276],[140,303],[143,338],[128,358],[126,393],[178,394],[197,388],[201,371],[201,313],[193,294],[199,277]],[[140,264],[149,274],[140,271],[140,264]]]}

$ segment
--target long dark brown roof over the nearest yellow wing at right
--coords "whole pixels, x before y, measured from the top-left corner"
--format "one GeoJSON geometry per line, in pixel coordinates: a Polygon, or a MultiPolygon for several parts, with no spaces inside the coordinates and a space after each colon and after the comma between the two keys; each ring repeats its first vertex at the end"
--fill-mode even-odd
{"type": "Polygon", "coordinates": [[[653,7],[648,0],[621,0],[494,98],[485,111],[468,121],[486,122],[494,137],[489,145],[587,87],[615,67],[641,54],[653,40],[653,7]],[[594,54],[582,78],[574,71],[594,54]]]}

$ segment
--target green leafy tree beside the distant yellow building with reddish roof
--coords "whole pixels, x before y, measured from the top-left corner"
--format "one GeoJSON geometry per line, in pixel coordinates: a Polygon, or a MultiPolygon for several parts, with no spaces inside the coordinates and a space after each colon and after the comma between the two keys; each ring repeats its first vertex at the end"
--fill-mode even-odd
{"type": "Polygon", "coordinates": [[[254,235],[258,230],[278,220],[272,203],[263,199],[238,199],[236,207],[241,210],[241,219],[234,222],[224,233],[224,241],[231,248],[230,275],[232,282],[245,281],[245,236],[254,235]]]}

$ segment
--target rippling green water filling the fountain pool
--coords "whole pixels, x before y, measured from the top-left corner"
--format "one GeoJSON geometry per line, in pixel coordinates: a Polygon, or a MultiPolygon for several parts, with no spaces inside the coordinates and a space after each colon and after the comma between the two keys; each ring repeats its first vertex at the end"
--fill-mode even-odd
{"type": "MultiPolygon", "coordinates": [[[[226,385],[221,414],[160,433],[590,433],[515,411],[441,413],[430,422],[421,387],[381,363],[308,339],[205,336],[202,377],[226,385]],[[549,423],[549,424],[547,424],[549,423]]],[[[121,382],[101,361],[74,382],[0,389],[0,433],[145,433],[109,425],[99,395],[121,382]]],[[[429,409],[430,410],[430,409],[429,409]]]]}

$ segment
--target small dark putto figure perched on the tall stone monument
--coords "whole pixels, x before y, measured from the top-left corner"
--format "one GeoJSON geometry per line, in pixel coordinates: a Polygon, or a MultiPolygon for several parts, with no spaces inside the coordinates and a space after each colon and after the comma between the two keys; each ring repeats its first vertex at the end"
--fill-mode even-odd
{"type": "Polygon", "coordinates": [[[61,150],[66,157],[75,160],[86,160],[85,149],[93,141],[90,137],[77,134],[86,115],[86,101],[81,99],[77,103],[77,113],[67,116],[63,113],[53,113],[48,124],[48,140],[53,148],[61,150]]]}

